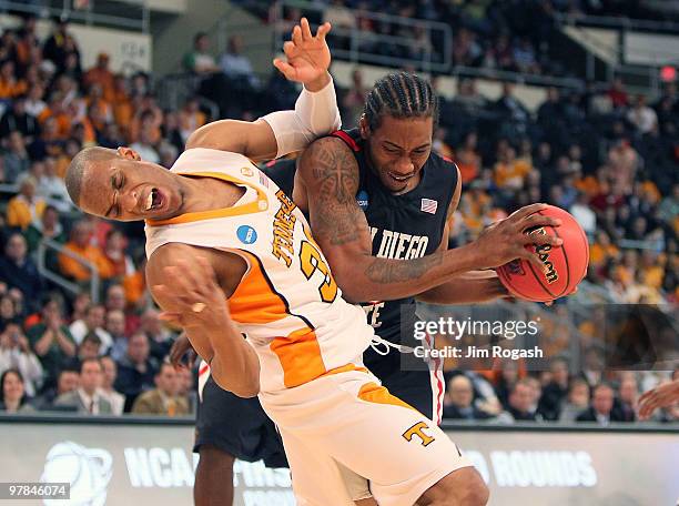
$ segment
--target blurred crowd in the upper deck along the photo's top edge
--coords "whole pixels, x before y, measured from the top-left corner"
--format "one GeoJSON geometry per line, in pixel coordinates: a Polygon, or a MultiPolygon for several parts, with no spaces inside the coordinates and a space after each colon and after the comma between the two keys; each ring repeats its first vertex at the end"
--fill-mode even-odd
{"type": "MultiPolygon", "coordinates": [[[[294,2],[283,8],[277,2],[235,3],[275,22],[283,34],[302,16],[316,23],[330,21],[334,48],[411,60],[417,70],[419,62],[430,61],[450,62],[454,69],[474,67],[558,77],[574,75],[575,69],[550,58],[550,45],[561,42],[553,37],[558,31],[555,14],[677,18],[672,9],[666,12],[658,6],[619,0],[313,0],[306,9],[294,2]],[[398,22],[383,14],[447,24],[452,39],[444,37],[440,24],[429,32],[422,24],[398,22]],[[355,45],[352,32],[361,34],[355,45]]],[[[358,61],[363,62],[361,55],[358,61]]]]}

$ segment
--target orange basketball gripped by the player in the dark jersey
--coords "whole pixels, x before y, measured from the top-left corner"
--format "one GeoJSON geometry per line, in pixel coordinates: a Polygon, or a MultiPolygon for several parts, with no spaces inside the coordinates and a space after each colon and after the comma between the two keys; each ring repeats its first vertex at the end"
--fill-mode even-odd
{"type": "MultiPolygon", "coordinates": [[[[585,274],[589,262],[589,244],[587,235],[579,223],[563,209],[550,205],[538,211],[551,217],[561,220],[557,227],[540,226],[526,231],[527,234],[550,234],[561,237],[561,246],[540,246],[537,253],[547,267],[540,272],[530,262],[517,259],[497,269],[500,282],[507,291],[517,298],[534,302],[549,302],[568,295],[578,285],[585,274]]],[[[526,246],[536,251],[535,245],[526,246]]]]}

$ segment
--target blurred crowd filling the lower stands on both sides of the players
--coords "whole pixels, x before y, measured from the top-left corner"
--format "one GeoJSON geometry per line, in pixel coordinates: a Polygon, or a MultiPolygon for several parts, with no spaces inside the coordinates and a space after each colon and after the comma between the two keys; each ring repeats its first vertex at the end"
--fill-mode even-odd
{"type": "MultiPolygon", "coordinates": [[[[43,41],[34,24],[29,18],[0,37],[0,409],[191,414],[195,371],[168,364],[176,334],[145,289],[141,226],[80,214],[62,178],[88,145],[131,145],[170,166],[191,132],[215,119],[205,103],[222,118],[251,120],[291,108],[297,90],[277,73],[266,82],[257,77],[239,37],[215,58],[207,36],[197,33],[182,61],[196,77],[196,94],[163,110],[152,77],[115,74],[105,53],[83,69],[68,23],[55,22],[43,41]],[[39,259],[77,293],[41,276],[39,259]],[[102,302],[91,296],[92,270],[102,302]]],[[[353,85],[338,90],[346,126],[369,87],[357,71],[353,85]]],[[[460,80],[455,98],[442,100],[435,134],[435,149],[463,174],[452,245],[520,205],[548,201],[587,231],[588,277],[612,300],[676,303],[678,111],[672,84],[652,99],[630,97],[620,81],[602,90],[549,89],[533,114],[511,84],[489,100],[473,80],[460,80]]],[[[580,331],[592,325],[584,322],[580,331]]],[[[511,364],[484,374],[453,367],[446,416],[634,419],[639,393],[663,380],[580,377],[559,367],[556,361],[539,375],[511,364]]],[[[677,419],[672,411],[659,416],[677,419]]]]}

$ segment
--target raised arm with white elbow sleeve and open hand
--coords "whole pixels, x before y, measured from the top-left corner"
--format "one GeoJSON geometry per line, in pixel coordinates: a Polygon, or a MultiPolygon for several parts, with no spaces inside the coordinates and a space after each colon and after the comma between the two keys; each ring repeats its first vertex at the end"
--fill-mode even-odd
{"type": "Polygon", "coordinates": [[[312,34],[308,21],[302,18],[285,42],[285,61],[274,67],[286,79],[303,84],[294,111],[277,111],[254,122],[221,120],[201,126],[186,141],[186,149],[210,148],[241,153],[252,160],[271,160],[300,151],[314,139],[341,126],[340,110],[333,81],[327,73],[331,63],[325,36],[330,23],[312,34]]]}

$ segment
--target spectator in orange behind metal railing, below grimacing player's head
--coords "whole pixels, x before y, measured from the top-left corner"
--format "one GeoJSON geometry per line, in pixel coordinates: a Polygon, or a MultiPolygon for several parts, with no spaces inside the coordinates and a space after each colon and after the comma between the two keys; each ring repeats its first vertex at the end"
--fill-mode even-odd
{"type": "MultiPolygon", "coordinates": [[[[101,249],[90,244],[91,235],[92,230],[90,224],[85,221],[80,221],[73,226],[73,230],[71,231],[71,240],[64,247],[69,252],[75,253],[82,259],[94,264],[99,276],[102,279],[108,279],[111,276],[111,266],[101,249]]],[[[75,281],[85,282],[90,281],[92,277],[92,273],[84,264],[64,253],[59,255],[59,267],[64,276],[75,281]]]]}

